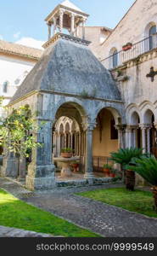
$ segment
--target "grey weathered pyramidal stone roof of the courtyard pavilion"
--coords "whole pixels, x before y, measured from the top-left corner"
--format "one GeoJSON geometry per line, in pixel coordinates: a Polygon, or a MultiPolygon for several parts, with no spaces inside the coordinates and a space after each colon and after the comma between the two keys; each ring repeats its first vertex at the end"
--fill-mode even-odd
{"type": "Polygon", "coordinates": [[[11,99],[33,91],[121,100],[111,74],[86,45],[59,38],[51,44],[11,99]]]}

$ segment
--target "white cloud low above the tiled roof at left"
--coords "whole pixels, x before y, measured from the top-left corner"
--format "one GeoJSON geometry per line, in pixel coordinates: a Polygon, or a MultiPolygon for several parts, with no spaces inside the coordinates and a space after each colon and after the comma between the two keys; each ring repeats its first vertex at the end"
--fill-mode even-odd
{"type": "Polygon", "coordinates": [[[15,44],[22,44],[22,45],[37,48],[37,49],[43,49],[42,45],[44,43],[45,42],[36,40],[34,38],[20,38],[18,41],[15,42],[15,44]]]}

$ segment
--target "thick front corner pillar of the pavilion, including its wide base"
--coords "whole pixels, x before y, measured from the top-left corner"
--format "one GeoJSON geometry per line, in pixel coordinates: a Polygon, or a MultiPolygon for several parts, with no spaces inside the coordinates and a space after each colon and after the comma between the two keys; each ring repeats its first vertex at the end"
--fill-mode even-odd
{"type": "Polygon", "coordinates": [[[32,150],[32,161],[28,166],[28,175],[26,177],[26,187],[28,189],[52,189],[55,185],[54,170],[52,160],[52,121],[37,119],[36,125],[42,128],[34,136],[36,142],[41,143],[42,147],[32,150]]]}

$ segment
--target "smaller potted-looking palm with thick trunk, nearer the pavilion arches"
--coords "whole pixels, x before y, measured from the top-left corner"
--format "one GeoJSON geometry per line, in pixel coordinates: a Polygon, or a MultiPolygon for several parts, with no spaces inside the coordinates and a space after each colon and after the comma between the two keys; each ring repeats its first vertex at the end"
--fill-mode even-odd
{"type": "Polygon", "coordinates": [[[128,169],[128,165],[132,165],[133,158],[141,158],[142,155],[142,148],[120,148],[117,152],[111,153],[111,160],[121,164],[122,169],[126,171],[126,189],[133,191],[135,186],[135,172],[128,169]]]}

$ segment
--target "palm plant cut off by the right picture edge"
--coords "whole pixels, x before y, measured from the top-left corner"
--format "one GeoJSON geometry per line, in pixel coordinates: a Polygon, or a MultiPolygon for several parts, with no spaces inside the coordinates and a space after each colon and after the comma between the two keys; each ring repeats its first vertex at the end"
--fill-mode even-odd
{"type": "Polygon", "coordinates": [[[154,156],[142,157],[141,159],[134,159],[134,163],[135,166],[130,166],[130,169],[133,169],[153,186],[154,210],[157,212],[157,160],[154,156]]]}

